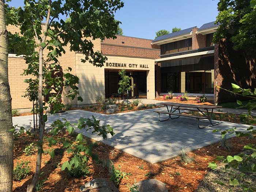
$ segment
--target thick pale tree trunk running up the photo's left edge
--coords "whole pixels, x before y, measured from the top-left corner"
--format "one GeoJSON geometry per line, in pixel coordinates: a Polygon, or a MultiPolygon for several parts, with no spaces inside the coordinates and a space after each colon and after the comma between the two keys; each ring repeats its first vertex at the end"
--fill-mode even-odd
{"type": "Polygon", "coordinates": [[[8,41],[4,0],[0,0],[0,191],[12,191],[13,134],[11,94],[8,82],[8,41]]]}

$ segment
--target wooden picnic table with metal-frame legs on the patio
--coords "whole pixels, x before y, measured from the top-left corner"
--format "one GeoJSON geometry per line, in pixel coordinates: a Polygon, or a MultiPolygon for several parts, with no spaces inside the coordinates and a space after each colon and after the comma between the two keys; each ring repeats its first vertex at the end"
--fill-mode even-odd
{"type": "Polygon", "coordinates": [[[173,102],[163,102],[160,103],[161,105],[166,106],[166,111],[154,111],[155,113],[158,113],[158,121],[167,121],[169,119],[176,119],[179,117],[190,117],[190,118],[196,118],[197,119],[197,127],[199,129],[203,129],[206,127],[219,125],[221,123],[221,115],[226,114],[226,112],[220,112],[220,111],[214,111],[214,109],[222,108],[222,106],[215,106],[215,105],[192,105],[192,104],[183,104],[183,103],[173,103],[173,102]],[[171,108],[169,110],[169,107],[171,108]],[[179,113],[174,113],[178,110],[179,113]],[[188,110],[188,111],[196,111],[203,114],[203,116],[195,116],[195,115],[189,115],[189,114],[181,114],[180,110],[188,110]],[[218,123],[212,123],[212,116],[213,114],[219,114],[220,121],[218,123]],[[165,120],[160,120],[160,114],[168,114],[169,117],[165,120]],[[172,117],[172,116],[178,116],[178,117],[172,117]],[[208,126],[200,126],[199,120],[200,119],[206,119],[209,121],[208,126]]]}

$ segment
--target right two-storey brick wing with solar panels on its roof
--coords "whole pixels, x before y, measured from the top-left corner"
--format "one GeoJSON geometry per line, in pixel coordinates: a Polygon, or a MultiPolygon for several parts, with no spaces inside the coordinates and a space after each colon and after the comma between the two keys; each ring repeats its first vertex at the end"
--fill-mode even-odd
{"type": "Polygon", "coordinates": [[[228,90],[232,90],[231,83],[246,89],[256,87],[255,59],[234,51],[228,39],[213,44],[218,27],[210,22],[154,39],[152,44],[161,47],[160,59],[155,60],[160,68],[156,74],[158,93],[187,91],[189,97],[206,94],[207,99],[215,98],[218,103],[236,98],[216,85],[228,90]]]}

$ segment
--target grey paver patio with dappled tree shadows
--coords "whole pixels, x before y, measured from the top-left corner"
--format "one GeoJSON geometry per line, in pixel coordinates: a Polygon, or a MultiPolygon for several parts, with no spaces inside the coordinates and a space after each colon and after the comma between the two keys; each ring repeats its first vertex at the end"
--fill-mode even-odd
{"type": "MultiPolygon", "coordinates": [[[[180,155],[182,147],[195,150],[218,142],[220,132],[212,132],[214,129],[224,130],[237,127],[238,130],[242,131],[249,127],[249,125],[223,122],[214,127],[198,129],[196,120],[184,117],[158,122],[157,114],[153,113],[154,110],[166,110],[166,108],[112,115],[72,110],[62,116],[49,116],[46,127],[57,119],[67,118],[67,120],[75,123],[80,117],[90,118],[94,115],[95,118],[101,120],[102,124],[110,124],[116,135],[103,140],[102,137],[91,134],[89,131],[77,131],[84,136],[101,141],[151,163],[180,155]]],[[[33,116],[13,117],[14,125],[30,127],[30,123],[33,125],[33,116]]]]}

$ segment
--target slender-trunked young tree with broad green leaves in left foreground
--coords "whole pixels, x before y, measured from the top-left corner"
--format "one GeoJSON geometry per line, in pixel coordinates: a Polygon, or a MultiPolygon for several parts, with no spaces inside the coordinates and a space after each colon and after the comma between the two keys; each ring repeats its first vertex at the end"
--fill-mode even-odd
{"type": "MultiPolygon", "coordinates": [[[[70,51],[84,54],[82,62],[89,61],[97,67],[102,67],[106,57],[98,51],[94,52],[93,42],[90,39],[116,38],[115,32],[120,22],[114,19],[114,13],[124,4],[121,0],[25,0],[24,3],[25,6],[17,10],[16,25],[20,26],[21,35],[10,34],[10,45],[16,53],[25,57],[28,68],[24,75],[34,76],[33,79],[27,80],[29,83],[27,95],[30,96],[35,90],[38,92],[40,130],[36,170],[31,184],[27,187],[27,192],[31,192],[40,175],[47,113],[53,114],[64,108],[61,103],[63,88],[69,88],[68,94],[64,97],[75,99],[79,94],[76,86],[79,83],[78,77],[70,73],[72,70],[70,67],[64,73],[58,59],[65,54],[64,47],[68,46],[70,51]],[[69,19],[65,22],[61,19],[62,15],[69,19]],[[45,102],[44,97],[46,97],[45,102]]],[[[7,10],[14,11],[14,8],[7,10]]],[[[82,101],[80,96],[77,99],[82,101]]],[[[109,125],[101,126],[95,118],[93,120],[80,118],[78,128],[87,128],[87,126],[93,127],[93,132],[99,132],[98,135],[102,135],[103,138],[107,133],[113,135],[109,125]]],[[[56,121],[51,133],[56,135],[64,127],[69,133],[74,131],[69,122],[56,121]]],[[[74,147],[78,147],[71,146],[65,138],[61,140],[65,147],[70,148],[69,152],[74,150],[74,147]]],[[[82,134],[77,136],[77,141],[82,141],[82,134]]],[[[50,145],[57,143],[52,137],[48,138],[48,142],[50,145]]],[[[79,147],[79,151],[81,150],[84,151],[85,147],[79,147]]],[[[82,161],[86,161],[86,158],[74,157],[70,162],[63,163],[62,168],[71,169],[72,165],[77,167],[82,161]]]]}

